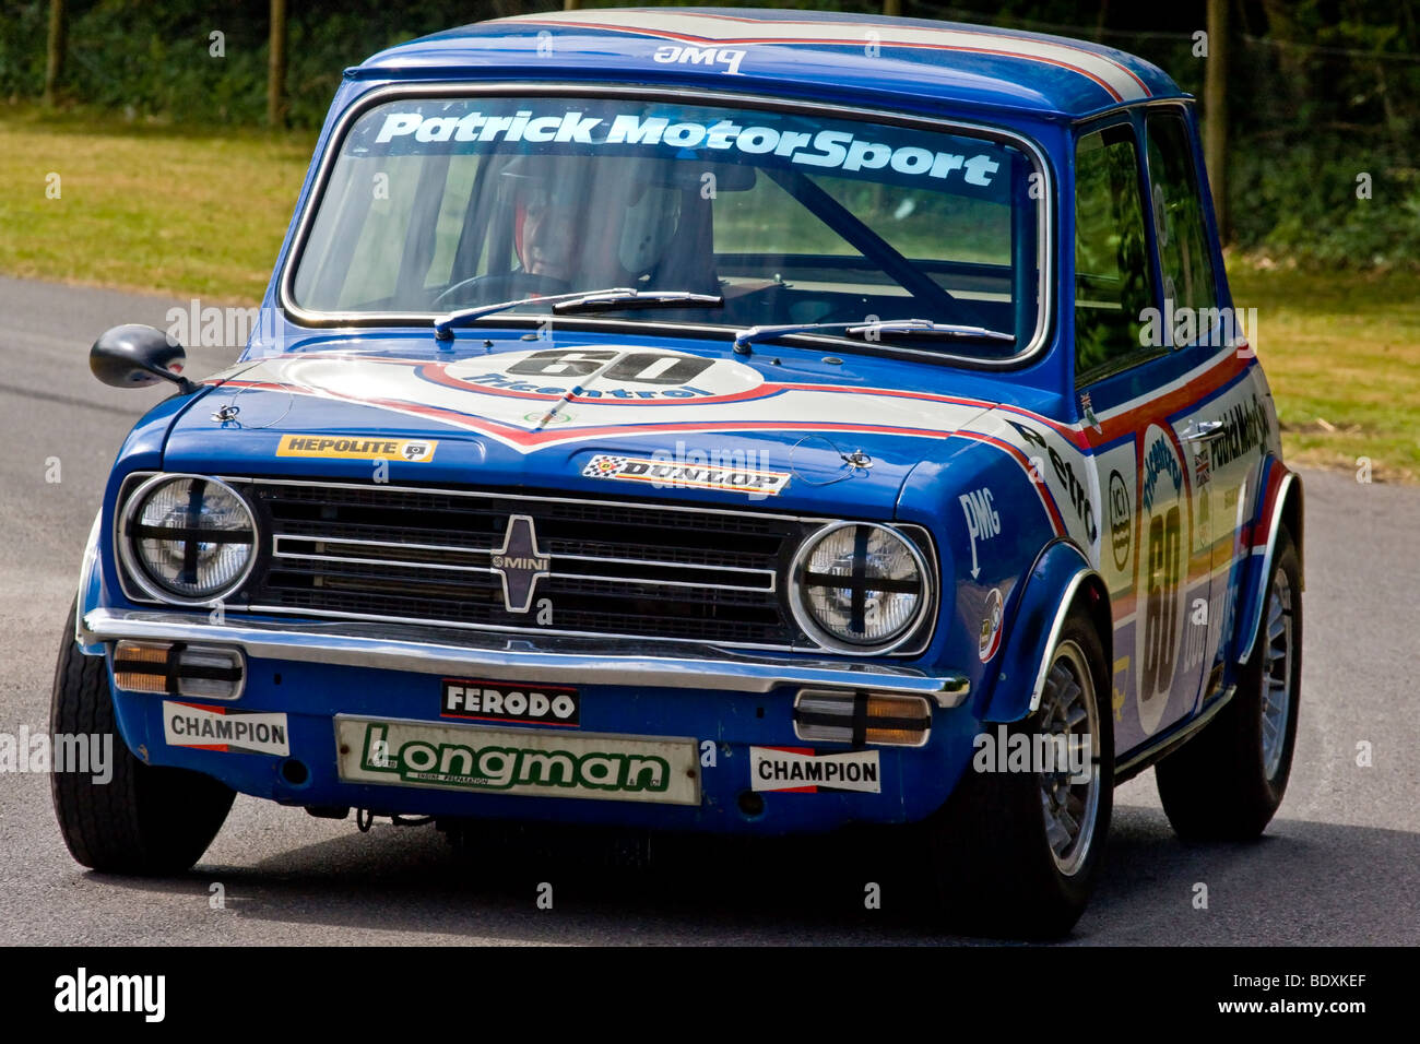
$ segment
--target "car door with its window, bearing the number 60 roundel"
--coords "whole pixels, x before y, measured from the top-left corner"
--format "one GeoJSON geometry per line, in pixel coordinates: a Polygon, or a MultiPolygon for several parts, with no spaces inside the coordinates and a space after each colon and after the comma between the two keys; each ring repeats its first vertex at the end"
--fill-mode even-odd
{"type": "Polygon", "coordinates": [[[1116,115],[1082,126],[1075,149],[1075,388],[1102,500],[1095,562],[1115,611],[1119,754],[1196,706],[1203,665],[1186,643],[1211,571],[1186,442],[1200,355],[1163,324],[1142,131],[1142,114],[1116,115]]]}

